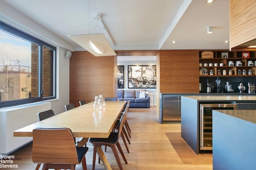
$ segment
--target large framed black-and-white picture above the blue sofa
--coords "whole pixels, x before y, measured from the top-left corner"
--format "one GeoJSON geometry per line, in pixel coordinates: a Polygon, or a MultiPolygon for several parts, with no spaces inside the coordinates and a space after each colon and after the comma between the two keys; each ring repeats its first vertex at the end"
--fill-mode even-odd
{"type": "Polygon", "coordinates": [[[156,88],[156,65],[128,66],[128,88],[156,88]]]}

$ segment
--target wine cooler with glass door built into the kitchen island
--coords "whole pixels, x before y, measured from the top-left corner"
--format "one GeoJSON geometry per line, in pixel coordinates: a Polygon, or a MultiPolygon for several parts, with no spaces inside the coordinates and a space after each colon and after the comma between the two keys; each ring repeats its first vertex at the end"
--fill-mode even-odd
{"type": "Polygon", "coordinates": [[[212,150],[212,110],[236,109],[236,104],[200,104],[200,150],[212,150]]]}

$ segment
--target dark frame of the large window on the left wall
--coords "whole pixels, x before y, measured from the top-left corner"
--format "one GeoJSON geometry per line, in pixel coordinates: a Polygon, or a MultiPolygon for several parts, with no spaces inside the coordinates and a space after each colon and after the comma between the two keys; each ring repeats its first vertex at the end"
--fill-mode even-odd
{"type": "Polygon", "coordinates": [[[3,23],[2,21],[0,21],[0,29],[2,31],[6,31],[7,33],[10,33],[14,36],[20,37],[21,39],[24,39],[25,41],[29,41],[31,43],[38,45],[38,97],[10,100],[10,101],[0,101],[0,108],[56,99],[56,63],[57,63],[56,62],[56,50],[57,50],[57,48],[54,47],[53,45],[50,45],[50,44],[44,42],[44,41],[41,41],[40,39],[37,39],[36,37],[28,35],[27,33],[24,33],[10,25],[7,25],[6,23],[3,23]],[[52,64],[52,66],[53,66],[53,77],[52,77],[53,96],[49,96],[49,97],[43,97],[43,95],[41,94],[42,84],[43,84],[43,47],[46,47],[53,51],[53,64],[52,64]]]}

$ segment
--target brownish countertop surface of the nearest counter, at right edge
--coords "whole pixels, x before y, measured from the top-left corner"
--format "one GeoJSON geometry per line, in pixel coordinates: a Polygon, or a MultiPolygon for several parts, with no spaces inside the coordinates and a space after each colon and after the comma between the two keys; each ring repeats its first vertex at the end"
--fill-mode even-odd
{"type": "Polygon", "coordinates": [[[256,123],[256,110],[215,110],[226,115],[256,123]]]}

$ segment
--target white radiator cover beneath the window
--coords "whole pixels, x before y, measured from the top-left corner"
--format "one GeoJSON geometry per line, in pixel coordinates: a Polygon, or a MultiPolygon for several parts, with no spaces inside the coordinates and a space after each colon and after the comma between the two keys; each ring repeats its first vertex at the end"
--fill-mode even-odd
{"type": "Polygon", "coordinates": [[[32,137],[14,137],[13,131],[37,122],[37,113],[48,109],[50,102],[0,108],[0,154],[10,154],[32,141],[32,137]]]}

